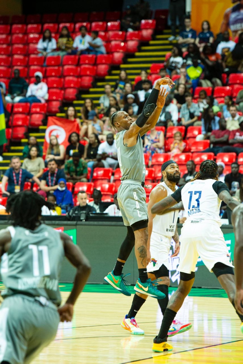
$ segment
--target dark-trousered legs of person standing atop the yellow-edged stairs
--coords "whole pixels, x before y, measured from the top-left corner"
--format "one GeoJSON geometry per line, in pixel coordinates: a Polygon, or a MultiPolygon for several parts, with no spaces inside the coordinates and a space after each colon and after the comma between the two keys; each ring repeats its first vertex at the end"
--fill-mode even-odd
{"type": "Polygon", "coordinates": [[[185,0],[170,0],[169,14],[172,35],[168,40],[179,40],[179,37],[176,37],[176,19],[179,20],[179,33],[181,33],[184,28],[185,0]]]}

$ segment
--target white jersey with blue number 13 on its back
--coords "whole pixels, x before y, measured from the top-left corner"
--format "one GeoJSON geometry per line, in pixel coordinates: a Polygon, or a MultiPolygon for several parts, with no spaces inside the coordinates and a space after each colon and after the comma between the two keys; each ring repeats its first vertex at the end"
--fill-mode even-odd
{"type": "Polygon", "coordinates": [[[186,221],[213,220],[219,223],[221,200],[212,188],[215,179],[196,179],[182,189],[182,202],[186,211],[186,221]]]}

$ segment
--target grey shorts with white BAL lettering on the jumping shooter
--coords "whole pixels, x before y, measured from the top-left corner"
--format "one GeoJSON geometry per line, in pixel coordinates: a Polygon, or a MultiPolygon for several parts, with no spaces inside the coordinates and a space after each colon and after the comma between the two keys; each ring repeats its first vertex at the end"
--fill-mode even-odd
{"type": "Polygon", "coordinates": [[[141,185],[132,183],[120,185],[117,201],[125,226],[148,219],[146,193],[141,185]]]}

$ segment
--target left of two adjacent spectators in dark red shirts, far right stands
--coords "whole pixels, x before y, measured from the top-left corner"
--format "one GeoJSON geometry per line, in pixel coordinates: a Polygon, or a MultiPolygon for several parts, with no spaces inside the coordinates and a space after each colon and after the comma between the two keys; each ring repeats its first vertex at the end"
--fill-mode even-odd
{"type": "Polygon", "coordinates": [[[219,119],[219,129],[212,130],[210,135],[210,144],[212,147],[205,149],[203,152],[221,153],[222,148],[228,145],[230,131],[226,129],[226,120],[219,119]]]}

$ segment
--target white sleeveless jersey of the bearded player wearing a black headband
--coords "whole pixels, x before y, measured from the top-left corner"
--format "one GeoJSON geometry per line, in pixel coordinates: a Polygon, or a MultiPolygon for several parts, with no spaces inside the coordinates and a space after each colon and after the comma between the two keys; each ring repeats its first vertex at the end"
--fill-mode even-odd
{"type": "MultiPolygon", "coordinates": [[[[163,186],[164,188],[166,188],[167,196],[169,196],[173,193],[173,191],[166,185],[165,182],[159,183],[158,186],[163,186]]],[[[178,186],[176,186],[175,188],[177,190],[178,186]]],[[[157,234],[166,236],[166,237],[174,236],[175,229],[176,229],[176,223],[178,220],[178,214],[179,214],[179,210],[171,211],[164,215],[155,215],[155,217],[153,218],[152,231],[157,234]]]]}

